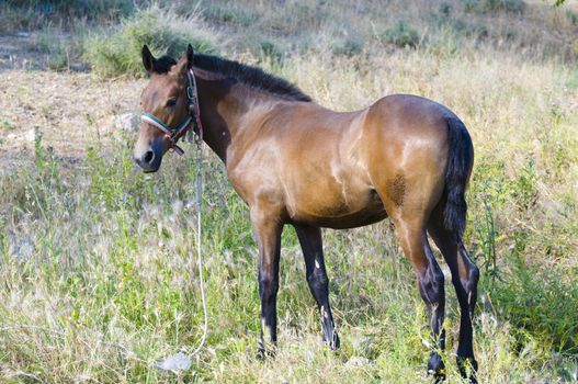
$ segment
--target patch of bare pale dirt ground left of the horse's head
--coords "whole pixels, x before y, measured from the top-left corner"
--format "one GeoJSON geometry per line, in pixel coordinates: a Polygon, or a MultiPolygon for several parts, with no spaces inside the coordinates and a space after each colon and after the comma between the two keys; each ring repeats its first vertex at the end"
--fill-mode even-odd
{"type": "MultiPolygon", "coordinates": [[[[103,80],[86,72],[32,70],[43,55],[21,49],[23,37],[2,36],[0,64],[0,161],[11,167],[33,154],[34,138],[70,160],[86,154],[90,139],[106,140],[131,128],[127,113],[138,111],[144,80],[103,80]],[[12,68],[13,66],[16,69],[12,68]]],[[[10,168],[10,167],[7,167],[10,168]]],[[[4,168],[4,171],[7,170],[4,168]]]]}

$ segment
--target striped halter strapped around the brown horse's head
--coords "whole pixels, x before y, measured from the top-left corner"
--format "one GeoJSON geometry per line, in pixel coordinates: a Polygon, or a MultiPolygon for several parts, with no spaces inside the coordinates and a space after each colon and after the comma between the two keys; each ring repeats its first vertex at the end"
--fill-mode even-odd
{"type": "Polygon", "coordinates": [[[163,121],[158,118],[151,113],[143,112],[140,117],[143,121],[147,122],[150,125],[156,126],[165,133],[165,137],[170,140],[170,148],[177,154],[182,156],[184,150],[177,145],[179,139],[186,133],[189,125],[193,122],[194,133],[196,140],[201,143],[203,140],[203,125],[201,124],[201,111],[199,109],[199,95],[196,92],[196,80],[192,69],[186,71],[186,99],[189,101],[189,113],[184,117],[183,122],[179,124],[175,128],[171,128],[163,121]]]}

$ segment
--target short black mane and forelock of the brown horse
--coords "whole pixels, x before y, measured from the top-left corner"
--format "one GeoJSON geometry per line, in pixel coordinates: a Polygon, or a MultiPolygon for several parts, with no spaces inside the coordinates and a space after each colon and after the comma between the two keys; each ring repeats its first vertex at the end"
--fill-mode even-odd
{"type": "MultiPolygon", "coordinates": [[[[169,65],[171,60],[174,61],[174,59],[169,56],[163,56],[158,59],[158,61],[160,60],[165,60],[165,65],[169,65]]],[[[273,76],[258,67],[204,54],[195,54],[193,64],[201,69],[227,78],[233,78],[249,87],[277,94],[288,100],[305,102],[313,101],[309,95],[305,94],[301,89],[287,80],[273,76]]],[[[168,69],[166,71],[168,71],[168,69]]]]}

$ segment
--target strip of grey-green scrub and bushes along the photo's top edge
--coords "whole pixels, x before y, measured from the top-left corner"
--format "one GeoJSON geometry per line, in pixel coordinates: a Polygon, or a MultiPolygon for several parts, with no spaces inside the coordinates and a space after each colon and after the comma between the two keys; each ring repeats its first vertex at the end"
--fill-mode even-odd
{"type": "MultiPolygon", "coordinates": [[[[185,41],[199,50],[250,52],[274,61],[282,60],[286,52],[318,53],[328,46],[336,56],[375,55],[384,43],[398,48],[419,45],[439,55],[488,48],[515,50],[526,59],[576,63],[578,58],[577,10],[569,4],[552,8],[523,0],[418,0],[409,4],[394,0],[387,7],[363,2],[353,9],[343,0],[331,4],[217,0],[196,5],[186,1],[31,0],[8,1],[0,10],[7,14],[0,20],[0,32],[39,31],[36,41],[59,35],[46,52],[52,69],[90,66],[102,77],[140,77],[135,57],[144,43],[178,55],[185,41]]],[[[46,44],[38,42],[38,46],[46,44]]]]}

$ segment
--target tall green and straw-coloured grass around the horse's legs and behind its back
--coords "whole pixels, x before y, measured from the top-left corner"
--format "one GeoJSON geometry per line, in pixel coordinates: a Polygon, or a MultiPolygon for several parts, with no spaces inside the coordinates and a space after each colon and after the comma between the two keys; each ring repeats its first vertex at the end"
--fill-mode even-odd
{"type": "MultiPolygon", "coordinates": [[[[463,63],[416,50],[387,61],[369,58],[356,68],[348,60],[293,56],[282,67],[271,65],[338,110],[403,91],[462,111],[477,150],[466,244],[484,271],[476,320],[483,382],[571,380],[578,145],[564,91],[570,72],[526,64],[512,79],[502,76],[503,68],[519,64],[507,57],[463,63]],[[437,75],[420,72],[418,61],[437,75]],[[475,70],[466,70],[472,65],[475,70]],[[369,68],[381,68],[379,81],[369,68]],[[535,91],[546,83],[556,91],[535,91]],[[489,110],[497,114],[488,116],[489,110]]],[[[195,165],[169,156],[161,173],[146,177],[132,165],[133,140],[121,136],[104,145],[93,137],[73,167],[37,142],[34,163],[2,179],[4,381],[19,382],[23,374],[50,382],[427,381],[424,308],[387,223],[325,233],[343,341],[337,353],[320,342],[295,234],[285,230],[280,355],[264,364],[253,359],[256,245],[247,208],[214,157],[205,167],[208,345],[181,377],[155,369],[157,359],[191,351],[201,337],[190,204],[195,165]]],[[[447,292],[446,360],[451,381],[460,382],[452,358],[458,316],[450,286],[447,292]]]]}

